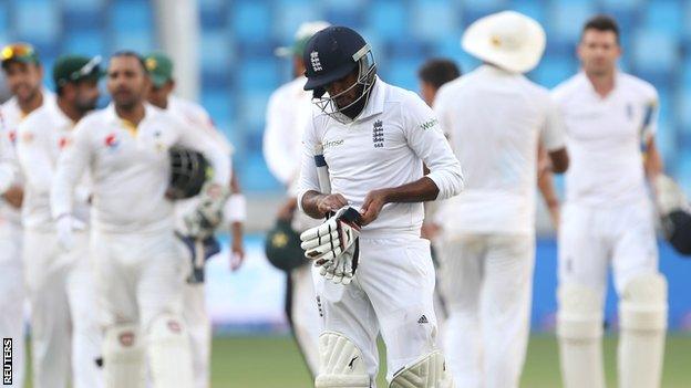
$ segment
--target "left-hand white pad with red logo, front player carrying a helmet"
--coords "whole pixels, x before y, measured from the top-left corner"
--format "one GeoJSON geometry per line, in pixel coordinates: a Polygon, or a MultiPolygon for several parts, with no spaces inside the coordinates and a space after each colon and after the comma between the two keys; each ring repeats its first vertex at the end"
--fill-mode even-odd
{"type": "Polygon", "coordinates": [[[146,387],[142,336],[136,325],[116,325],[103,338],[105,388],[146,387]]]}

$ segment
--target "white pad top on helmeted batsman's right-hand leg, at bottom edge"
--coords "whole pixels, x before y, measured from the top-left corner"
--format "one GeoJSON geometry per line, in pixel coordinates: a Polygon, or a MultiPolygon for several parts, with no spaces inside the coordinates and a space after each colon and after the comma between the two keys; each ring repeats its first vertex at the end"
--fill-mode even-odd
{"type": "Polygon", "coordinates": [[[389,388],[453,388],[441,352],[426,354],[393,375],[389,388]]]}

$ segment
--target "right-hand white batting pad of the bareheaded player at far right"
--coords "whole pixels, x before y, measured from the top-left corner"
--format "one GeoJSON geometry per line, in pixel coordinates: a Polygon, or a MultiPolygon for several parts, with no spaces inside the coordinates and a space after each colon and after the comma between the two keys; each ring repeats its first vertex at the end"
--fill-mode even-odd
{"type": "Polygon", "coordinates": [[[618,349],[621,387],[659,387],[667,331],[667,280],[657,273],[631,279],[620,300],[618,349]]]}

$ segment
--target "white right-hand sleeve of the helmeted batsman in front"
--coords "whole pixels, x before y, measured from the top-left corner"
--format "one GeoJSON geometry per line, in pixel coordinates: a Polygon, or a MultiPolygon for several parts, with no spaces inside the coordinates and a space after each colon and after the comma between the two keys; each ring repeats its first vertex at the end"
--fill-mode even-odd
{"type": "Polygon", "coordinates": [[[458,195],[464,186],[461,162],[451,150],[437,117],[417,96],[402,108],[408,144],[430,169],[427,177],[440,190],[436,199],[458,195]]]}

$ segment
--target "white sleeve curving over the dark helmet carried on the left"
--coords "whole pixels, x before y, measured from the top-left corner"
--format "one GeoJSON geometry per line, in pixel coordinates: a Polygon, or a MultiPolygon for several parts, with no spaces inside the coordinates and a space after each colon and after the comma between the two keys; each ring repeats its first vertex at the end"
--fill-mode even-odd
{"type": "Polygon", "coordinates": [[[224,147],[214,141],[214,138],[208,134],[196,130],[173,116],[168,115],[166,118],[177,128],[176,144],[204,154],[214,168],[212,180],[217,185],[228,187],[230,185],[231,161],[230,155],[224,147]]]}

